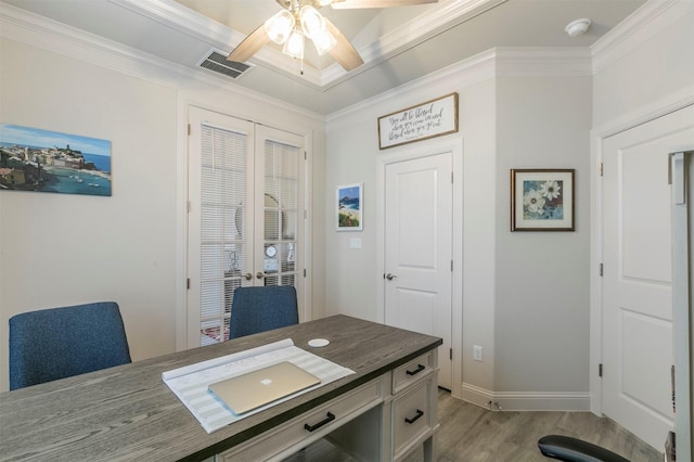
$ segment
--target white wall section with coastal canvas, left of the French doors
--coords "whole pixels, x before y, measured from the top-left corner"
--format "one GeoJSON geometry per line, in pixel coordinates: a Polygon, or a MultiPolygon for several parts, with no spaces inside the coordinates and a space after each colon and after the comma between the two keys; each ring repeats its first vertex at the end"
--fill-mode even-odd
{"type": "Polygon", "coordinates": [[[1,67],[3,123],[111,140],[113,171],[112,197],[2,192],[2,325],[115,300],[134,359],[172,351],[176,91],[9,40],[1,67]]]}

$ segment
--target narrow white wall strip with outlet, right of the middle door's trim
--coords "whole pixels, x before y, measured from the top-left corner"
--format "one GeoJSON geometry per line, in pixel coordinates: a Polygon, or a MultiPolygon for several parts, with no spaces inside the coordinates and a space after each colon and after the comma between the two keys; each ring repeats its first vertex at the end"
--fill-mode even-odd
{"type": "MultiPolygon", "coordinates": [[[[461,88],[463,133],[463,313],[462,384],[466,389],[494,389],[496,354],[496,207],[499,192],[490,183],[497,171],[497,85],[493,78],[461,88]],[[473,360],[473,346],[485,361],[473,360]]],[[[457,384],[458,385],[458,384],[457,384]]],[[[484,399],[483,399],[484,400],[484,399]]]]}

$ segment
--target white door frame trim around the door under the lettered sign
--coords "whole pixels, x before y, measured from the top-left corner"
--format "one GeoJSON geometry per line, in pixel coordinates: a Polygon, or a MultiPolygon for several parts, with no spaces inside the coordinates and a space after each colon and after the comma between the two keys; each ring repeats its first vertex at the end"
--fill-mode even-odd
{"type": "MultiPolygon", "coordinates": [[[[463,138],[445,137],[428,143],[396,147],[388,154],[376,157],[376,266],[375,277],[383,278],[385,268],[385,171],[386,166],[403,161],[452,153],[452,259],[453,283],[451,285],[451,348],[453,350],[451,395],[462,399],[463,383],[463,138]]],[[[376,284],[376,321],[385,322],[385,290],[376,284]]]]}

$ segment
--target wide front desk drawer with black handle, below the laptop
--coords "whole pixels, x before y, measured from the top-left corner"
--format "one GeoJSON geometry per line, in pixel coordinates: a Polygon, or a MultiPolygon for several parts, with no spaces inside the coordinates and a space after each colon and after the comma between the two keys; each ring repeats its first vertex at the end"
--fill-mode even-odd
{"type": "MultiPolygon", "coordinates": [[[[386,375],[387,376],[387,375],[386,375]]],[[[217,455],[217,461],[279,460],[322,438],[383,402],[384,377],[371,381],[316,409],[217,455]],[[306,427],[312,427],[308,429],[306,427]]]]}

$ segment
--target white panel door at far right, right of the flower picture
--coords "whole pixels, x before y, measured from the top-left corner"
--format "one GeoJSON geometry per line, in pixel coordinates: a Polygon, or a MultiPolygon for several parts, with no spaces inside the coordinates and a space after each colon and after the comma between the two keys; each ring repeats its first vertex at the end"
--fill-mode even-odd
{"type": "Polygon", "coordinates": [[[661,449],[672,428],[668,154],[694,108],[603,141],[603,412],[661,449]]]}

